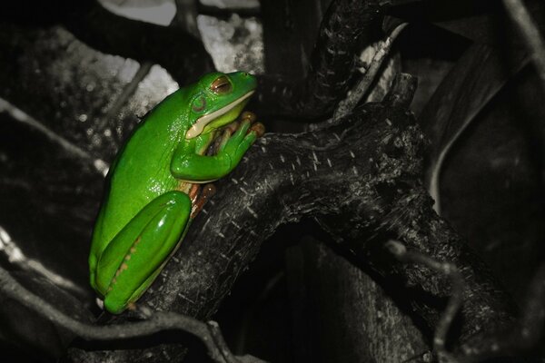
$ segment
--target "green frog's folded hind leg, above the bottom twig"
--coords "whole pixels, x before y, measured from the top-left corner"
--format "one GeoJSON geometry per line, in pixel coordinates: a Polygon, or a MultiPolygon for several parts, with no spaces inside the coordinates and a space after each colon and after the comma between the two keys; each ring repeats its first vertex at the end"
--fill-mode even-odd
{"type": "Polygon", "coordinates": [[[117,233],[98,260],[95,283],[114,314],[138,299],[183,238],[191,201],[168,191],[147,204],[117,233]]]}

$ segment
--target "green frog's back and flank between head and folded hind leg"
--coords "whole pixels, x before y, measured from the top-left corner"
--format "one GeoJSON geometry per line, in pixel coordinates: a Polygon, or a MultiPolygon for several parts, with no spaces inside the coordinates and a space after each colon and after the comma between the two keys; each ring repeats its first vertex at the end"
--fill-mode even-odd
{"type": "Polygon", "coordinates": [[[183,104],[180,92],[167,97],[137,126],[118,153],[108,173],[93,244],[105,247],[146,204],[177,187],[170,163],[184,133],[183,104]]]}

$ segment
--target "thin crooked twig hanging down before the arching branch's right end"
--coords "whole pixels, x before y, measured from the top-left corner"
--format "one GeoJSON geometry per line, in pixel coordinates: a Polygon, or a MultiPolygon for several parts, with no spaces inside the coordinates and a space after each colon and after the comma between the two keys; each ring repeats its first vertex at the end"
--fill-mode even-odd
{"type": "Polygon", "coordinates": [[[439,322],[435,327],[435,333],[433,335],[433,350],[435,351],[435,354],[440,362],[456,362],[457,359],[454,358],[445,348],[445,342],[449,329],[451,329],[452,320],[454,317],[456,317],[456,314],[461,307],[464,284],[460,270],[449,262],[440,262],[433,260],[431,257],[420,252],[407,250],[405,246],[397,240],[389,240],[386,243],[386,247],[398,260],[401,260],[402,262],[418,263],[431,270],[441,272],[451,279],[451,299],[449,299],[447,307],[443,311],[441,319],[439,319],[439,322]]]}

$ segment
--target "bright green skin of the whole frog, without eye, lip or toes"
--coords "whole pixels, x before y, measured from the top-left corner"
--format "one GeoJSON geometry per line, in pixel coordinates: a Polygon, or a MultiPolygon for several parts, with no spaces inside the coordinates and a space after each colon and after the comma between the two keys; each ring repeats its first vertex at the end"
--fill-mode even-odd
{"type": "Polygon", "coordinates": [[[89,254],[91,286],[108,311],[120,313],[138,299],[183,239],[192,203],[177,188],[233,171],[257,137],[248,132],[250,123],[243,122],[216,155],[203,155],[217,129],[232,123],[247,100],[213,120],[199,136],[187,139],[186,132],[203,114],[233,103],[255,86],[255,78],[242,72],[206,74],[155,106],[117,154],[89,254]],[[233,90],[218,95],[210,86],[221,75],[233,90]]]}

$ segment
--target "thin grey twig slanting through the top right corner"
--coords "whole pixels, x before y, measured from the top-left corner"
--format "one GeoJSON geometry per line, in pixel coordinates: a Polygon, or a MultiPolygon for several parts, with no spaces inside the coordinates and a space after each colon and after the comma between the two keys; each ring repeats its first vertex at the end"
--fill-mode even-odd
{"type": "Polygon", "coordinates": [[[532,20],[528,10],[520,0],[503,0],[511,20],[519,27],[522,38],[530,49],[532,60],[545,90],[545,43],[540,30],[532,20]]]}

